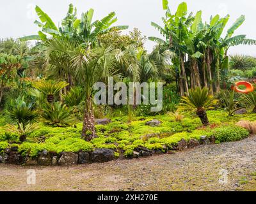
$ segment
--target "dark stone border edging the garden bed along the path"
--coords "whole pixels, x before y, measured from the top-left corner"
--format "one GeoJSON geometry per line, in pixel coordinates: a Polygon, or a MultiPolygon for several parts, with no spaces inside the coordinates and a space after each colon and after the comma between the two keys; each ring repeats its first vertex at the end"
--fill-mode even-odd
{"type": "Polygon", "coordinates": [[[17,147],[5,149],[4,153],[0,155],[0,163],[5,164],[17,164],[26,166],[70,166],[74,164],[90,164],[90,163],[104,163],[114,159],[133,159],[139,157],[148,157],[153,154],[175,154],[176,151],[182,151],[184,149],[191,149],[198,145],[215,143],[215,138],[207,138],[207,136],[201,136],[200,141],[196,139],[190,139],[189,142],[182,139],[172,149],[168,147],[162,150],[149,150],[145,147],[138,147],[134,149],[133,155],[130,157],[124,157],[124,151],[120,151],[120,157],[115,157],[115,151],[111,149],[95,149],[93,152],[47,152],[46,150],[40,152],[38,157],[31,158],[29,156],[22,156],[18,152],[17,147]]]}

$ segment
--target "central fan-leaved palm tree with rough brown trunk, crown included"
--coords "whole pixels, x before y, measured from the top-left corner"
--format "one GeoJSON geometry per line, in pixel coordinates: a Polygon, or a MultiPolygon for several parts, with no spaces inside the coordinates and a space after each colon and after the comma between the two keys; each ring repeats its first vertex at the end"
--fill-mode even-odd
{"type": "Polygon", "coordinates": [[[95,135],[93,112],[93,84],[107,82],[108,77],[118,77],[115,72],[116,50],[108,48],[77,49],[74,54],[74,77],[83,87],[85,94],[82,137],[90,141],[95,135]]]}

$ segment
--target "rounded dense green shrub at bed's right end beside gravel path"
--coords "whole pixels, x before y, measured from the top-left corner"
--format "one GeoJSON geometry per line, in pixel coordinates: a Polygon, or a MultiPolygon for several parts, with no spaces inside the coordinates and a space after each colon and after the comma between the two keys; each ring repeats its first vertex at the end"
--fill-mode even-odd
{"type": "Polygon", "coordinates": [[[232,142],[248,137],[249,131],[239,126],[229,125],[214,129],[212,134],[217,142],[232,142]]]}

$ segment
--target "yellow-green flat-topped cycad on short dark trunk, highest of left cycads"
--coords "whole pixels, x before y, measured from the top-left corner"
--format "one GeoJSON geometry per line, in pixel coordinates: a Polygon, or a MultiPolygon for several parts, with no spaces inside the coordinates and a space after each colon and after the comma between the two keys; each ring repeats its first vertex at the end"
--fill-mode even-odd
{"type": "Polygon", "coordinates": [[[38,91],[45,94],[47,97],[47,101],[49,103],[54,102],[54,95],[56,95],[58,92],[61,91],[64,87],[67,87],[67,82],[54,82],[51,80],[48,81],[39,81],[35,82],[33,84],[33,87],[35,87],[38,91]]]}

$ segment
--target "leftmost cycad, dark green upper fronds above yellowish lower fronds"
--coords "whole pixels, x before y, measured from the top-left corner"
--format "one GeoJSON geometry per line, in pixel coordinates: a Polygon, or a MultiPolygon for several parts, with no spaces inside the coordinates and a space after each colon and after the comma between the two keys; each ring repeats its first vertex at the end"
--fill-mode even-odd
{"type": "Polygon", "coordinates": [[[17,127],[9,125],[7,130],[18,133],[20,136],[20,142],[24,142],[26,140],[26,136],[35,129],[35,126],[32,124],[38,119],[39,113],[35,110],[33,105],[27,105],[24,101],[24,97],[19,96],[19,98],[11,101],[7,115],[12,122],[17,124],[17,127]]]}

